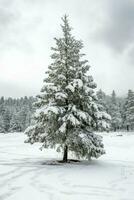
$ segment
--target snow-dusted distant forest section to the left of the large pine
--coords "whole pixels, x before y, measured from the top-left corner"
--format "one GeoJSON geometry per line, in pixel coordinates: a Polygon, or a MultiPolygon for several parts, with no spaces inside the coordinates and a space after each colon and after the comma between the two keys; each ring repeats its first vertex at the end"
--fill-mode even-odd
{"type": "Polygon", "coordinates": [[[34,97],[0,98],[0,132],[22,132],[31,123],[34,97]]]}

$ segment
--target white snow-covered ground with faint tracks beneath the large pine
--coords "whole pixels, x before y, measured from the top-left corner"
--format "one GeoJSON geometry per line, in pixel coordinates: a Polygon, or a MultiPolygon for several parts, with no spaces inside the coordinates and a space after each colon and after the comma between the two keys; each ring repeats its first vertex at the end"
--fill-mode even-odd
{"type": "Polygon", "coordinates": [[[134,133],[104,134],[98,160],[48,165],[54,150],[25,144],[24,134],[0,134],[0,200],[134,200],[134,133]]]}

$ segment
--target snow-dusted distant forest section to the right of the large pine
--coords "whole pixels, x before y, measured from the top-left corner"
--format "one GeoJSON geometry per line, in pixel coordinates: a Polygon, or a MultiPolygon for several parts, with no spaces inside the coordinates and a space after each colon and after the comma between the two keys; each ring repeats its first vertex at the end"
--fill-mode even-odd
{"type": "Polygon", "coordinates": [[[134,130],[134,92],[132,90],[128,90],[126,98],[117,97],[114,90],[110,96],[99,90],[97,97],[104,111],[111,116],[111,131],[134,130]]]}

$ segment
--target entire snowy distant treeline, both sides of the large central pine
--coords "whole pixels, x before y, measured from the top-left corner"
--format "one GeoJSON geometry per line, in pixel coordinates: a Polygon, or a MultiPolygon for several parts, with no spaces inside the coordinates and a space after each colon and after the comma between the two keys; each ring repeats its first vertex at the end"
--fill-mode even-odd
{"type": "MultiPolygon", "coordinates": [[[[111,116],[111,131],[134,130],[134,92],[128,91],[127,97],[117,97],[115,91],[106,95],[97,92],[98,102],[111,116]]],[[[0,98],[0,132],[22,132],[31,123],[35,111],[35,97],[0,98]]]]}

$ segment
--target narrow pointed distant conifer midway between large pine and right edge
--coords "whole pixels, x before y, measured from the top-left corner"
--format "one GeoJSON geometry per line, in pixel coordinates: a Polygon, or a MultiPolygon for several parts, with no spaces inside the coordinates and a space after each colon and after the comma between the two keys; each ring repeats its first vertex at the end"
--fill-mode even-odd
{"type": "Polygon", "coordinates": [[[116,93],[113,90],[111,95],[111,101],[109,105],[109,114],[111,116],[111,128],[113,131],[116,131],[121,127],[122,117],[120,112],[120,105],[117,101],[116,93]]]}

